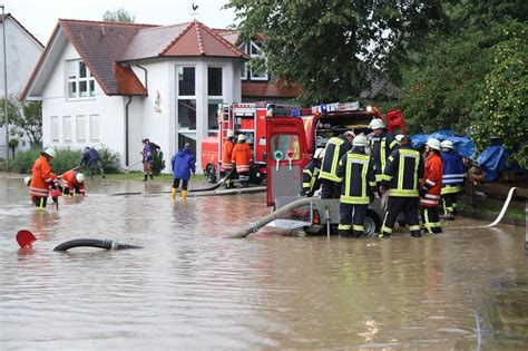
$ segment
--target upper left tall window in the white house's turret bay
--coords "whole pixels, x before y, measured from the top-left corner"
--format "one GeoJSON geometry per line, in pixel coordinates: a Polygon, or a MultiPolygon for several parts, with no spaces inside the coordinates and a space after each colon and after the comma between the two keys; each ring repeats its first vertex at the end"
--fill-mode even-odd
{"type": "Polygon", "coordinates": [[[195,67],[177,67],[178,128],[196,130],[196,74],[195,67]]]}

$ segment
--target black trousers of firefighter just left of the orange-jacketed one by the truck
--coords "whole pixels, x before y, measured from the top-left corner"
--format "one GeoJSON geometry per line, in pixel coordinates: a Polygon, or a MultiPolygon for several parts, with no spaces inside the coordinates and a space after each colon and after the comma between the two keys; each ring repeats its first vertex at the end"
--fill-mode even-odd
{"type": "Polygon", "coordinates": [[[381,227],[380,237],[390,236],[400,212],[403,212],[409,231],[414,237],[421,236],[420,222],[418,221],[418,197],[389,196],[385,218],[381,227]]]}

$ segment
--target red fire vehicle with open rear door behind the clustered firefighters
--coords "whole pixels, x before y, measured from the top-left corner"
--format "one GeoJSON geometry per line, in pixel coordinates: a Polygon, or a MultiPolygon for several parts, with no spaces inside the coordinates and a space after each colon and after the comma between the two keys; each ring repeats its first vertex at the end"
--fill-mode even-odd
{"type": "MultiPolygon", "coordinates": [[[[383,116],[377,108],[363,108],[359,103],[322,104],[310,109],[295,110],[294,117],[267,117],[267,205],[275,209],[297,199],[302,186],[302,173],[316,148],[325,147],[327,140],[346,130],[356,135],[369,134],[373,118],[383,116]]],[[[403,115],[400,110],[385,114],[389,133],[405,134],[403,115]]],[[[306,208],[305,208],[306,209],[306,208]]],[[[313,197],[307,216],[287,226],[304,227],[309,233],[319,232],[322,226],[339,223],[339,199],[313,197]]],[[[382,222],[380,199],[371,204],[365,232],[379,231],[382,222]]]]}

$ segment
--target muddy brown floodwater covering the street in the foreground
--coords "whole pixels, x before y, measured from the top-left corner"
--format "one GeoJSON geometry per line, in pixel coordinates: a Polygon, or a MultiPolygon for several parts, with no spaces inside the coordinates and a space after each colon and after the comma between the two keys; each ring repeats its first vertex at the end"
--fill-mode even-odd
{"type": "Polygon", "coordinates": [[[0,176],[1,350],[528,348],[524,227],[227,240],[268,213],[264,194],[108,196],[143,189],[87,181],[86,198],[36,212],[22,179],[0,176]],[[144,248],[52,251],[74,238],[144,248]]]}

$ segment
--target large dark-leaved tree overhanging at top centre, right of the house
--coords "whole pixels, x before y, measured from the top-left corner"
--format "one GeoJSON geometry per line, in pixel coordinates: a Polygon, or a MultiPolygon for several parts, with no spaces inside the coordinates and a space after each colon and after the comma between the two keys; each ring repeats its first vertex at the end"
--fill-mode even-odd
{"type": "Polygon", "coordinates": [[[267,68],[306,104],[355,99],[377,74],[398,77],[409,48],[442,19],[440,0],[229,0],[243,40],[265,38],[267,68]]]}

